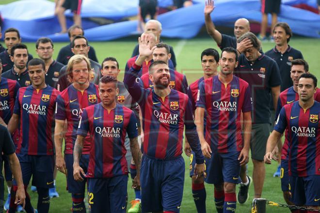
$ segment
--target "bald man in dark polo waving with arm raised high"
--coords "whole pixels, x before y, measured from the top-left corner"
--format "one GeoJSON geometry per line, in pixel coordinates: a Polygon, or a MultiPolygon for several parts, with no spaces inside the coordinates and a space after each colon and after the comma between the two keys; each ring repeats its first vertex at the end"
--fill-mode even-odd
{"type": "Polygon", "coordinates": [[[210,16],[214,8],[215,8],[214,0],[206,0],[204,13],[205,13],[205,23],[206,23],[207,32],[214,39],[214,41],[217,43],[220,49],[222,50],[225,47],[231,46],[237,49],[238,53],[241,54],[246,48],[251,47],[252,44],[250,40],[244,40],[242,43],[237,44],[237,39],[244,33],[250,31],[250,23],[248,19],[239,18],[235,22],[235,26],[234,26],[235,37],[222,34],[218,30],[216,30],[210,16]]]}

